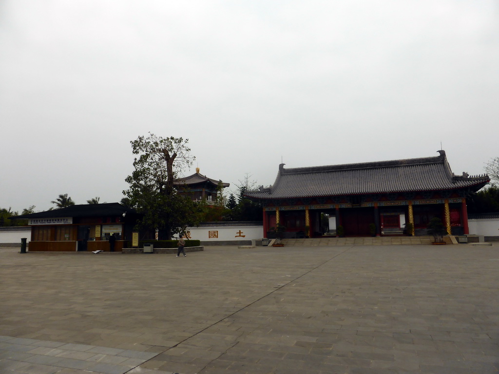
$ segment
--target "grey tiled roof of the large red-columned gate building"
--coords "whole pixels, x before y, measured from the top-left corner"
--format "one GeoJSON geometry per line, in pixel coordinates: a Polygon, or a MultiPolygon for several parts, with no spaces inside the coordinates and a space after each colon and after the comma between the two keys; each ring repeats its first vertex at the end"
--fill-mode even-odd
{"type": "Polygon", "coordinates": [[[448,190],[471,187],[478,190],[489,182],[487,175],[455,176],[444,151],[440,156],[362,164],[284,169],[273,186],[248,191],[253,198],[296,198],[366,193],[448,190]]]}

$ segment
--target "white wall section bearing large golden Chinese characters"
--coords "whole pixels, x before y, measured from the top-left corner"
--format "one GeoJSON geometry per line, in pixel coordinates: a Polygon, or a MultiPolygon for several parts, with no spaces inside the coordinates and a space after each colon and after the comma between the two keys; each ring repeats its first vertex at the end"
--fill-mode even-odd
{"type": "Polygon", "coordinates": [[[188,227],[188,230],[191,239],[201,241],[255,240],[263,237],[263,226],[188,227]]]}

